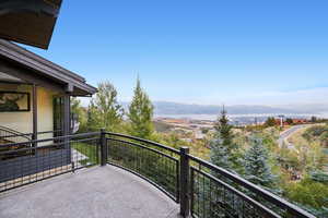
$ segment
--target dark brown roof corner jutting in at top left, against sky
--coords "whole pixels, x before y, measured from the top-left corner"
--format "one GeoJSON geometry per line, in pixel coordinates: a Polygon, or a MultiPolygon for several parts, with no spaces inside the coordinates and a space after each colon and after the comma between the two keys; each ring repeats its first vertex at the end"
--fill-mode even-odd
{"type": "Polygon", "coordinates": [[[47,49],[62,0],[1,0],[0,38],[47,49]]]}

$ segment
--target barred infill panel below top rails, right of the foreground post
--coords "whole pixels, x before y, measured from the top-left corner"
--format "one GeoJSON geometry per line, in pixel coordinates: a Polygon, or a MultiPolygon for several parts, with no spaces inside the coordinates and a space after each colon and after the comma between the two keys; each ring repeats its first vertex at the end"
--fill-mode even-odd
{"type": "Polygon", "coordinates": [[[280,217],[232,185],[191,167],[194,217],[280,217]]]}

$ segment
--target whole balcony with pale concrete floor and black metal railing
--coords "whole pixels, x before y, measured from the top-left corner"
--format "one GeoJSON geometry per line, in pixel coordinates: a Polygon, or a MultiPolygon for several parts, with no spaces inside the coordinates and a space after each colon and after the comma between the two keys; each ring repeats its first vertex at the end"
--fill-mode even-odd
{"type": "Polygon", "coordinates": [[[0,217],[314,218],[186,147],[103,131],[3,145],[0,169],[0,217]]]}

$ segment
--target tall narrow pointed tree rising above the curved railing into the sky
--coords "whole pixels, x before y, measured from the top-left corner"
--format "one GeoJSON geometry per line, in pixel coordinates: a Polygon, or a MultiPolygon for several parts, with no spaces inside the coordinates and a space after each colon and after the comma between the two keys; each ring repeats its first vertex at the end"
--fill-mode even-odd
{"type": "Polygon", "coordinates": [[[129,106],[128,118],[130,121],[129,133],[137,137],[150,140],[153,132],[154,107],[147,93],[141,88],[140,80],[137,80],[134,96],[129,106]]]}

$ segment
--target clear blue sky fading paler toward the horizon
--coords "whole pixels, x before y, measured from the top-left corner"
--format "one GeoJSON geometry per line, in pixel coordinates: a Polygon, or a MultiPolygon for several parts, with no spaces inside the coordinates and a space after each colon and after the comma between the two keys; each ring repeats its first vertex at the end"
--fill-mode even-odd
{"type": "MultiPolygon", "coordinates": [[[[328,1],[69,1],[48,50],[129,100],[290,105],[328,99],[328,1]],[[83,4],[85,3],[85,4],[83,4]]],[[[327,101],[327,100],[326,100],[327,101]]]]}

